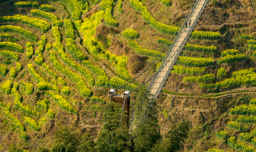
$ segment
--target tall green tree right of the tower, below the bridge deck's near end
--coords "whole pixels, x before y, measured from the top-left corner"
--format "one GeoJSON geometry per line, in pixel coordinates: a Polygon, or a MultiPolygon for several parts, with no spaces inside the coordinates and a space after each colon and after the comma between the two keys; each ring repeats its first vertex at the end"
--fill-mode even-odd
{"type": "Polygon", "coordinates": [[[161,137],[158,126],[157,103],[148,89],[141,87],[135,100],[135,113],[132,124],[135,152],[148,152],[161,137]]]}

